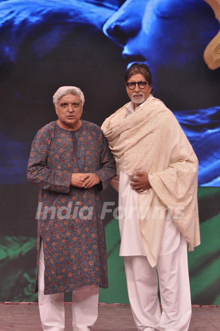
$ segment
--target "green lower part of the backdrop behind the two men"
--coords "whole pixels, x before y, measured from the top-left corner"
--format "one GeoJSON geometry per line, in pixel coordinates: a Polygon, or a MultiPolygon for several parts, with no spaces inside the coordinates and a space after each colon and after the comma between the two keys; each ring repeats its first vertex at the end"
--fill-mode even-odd
{"type": "MultiPolygon", "coordinates": [[[[190,252],[189,270],[192,303],[220,305],[220,188],[198,189],[201,245],[190,252]]],[[[106,225],[109,288],[100,289],[99,302],[128,304],[124,261],[119,257],[118,220],[106,225]]],[[[0,301],[37,301],[35,281],[36,239],[25,236],[1,236],[0,301]]],[[[71,301],[71,293],[65,293],[71,301]]]]}

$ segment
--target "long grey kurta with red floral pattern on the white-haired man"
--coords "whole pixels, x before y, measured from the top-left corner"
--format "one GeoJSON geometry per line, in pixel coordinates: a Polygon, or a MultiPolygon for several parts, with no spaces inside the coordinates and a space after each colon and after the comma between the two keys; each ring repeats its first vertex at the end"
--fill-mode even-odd
{"type": "Polygon", "coordinates": [[[68,131],[51,122],[37,132],[28,179],[40,188],[37,267],[42,240],[44,294],[95,284],[108,287],[100,191],[115,172],[114,159],[97,125],[82,120],[78,130],[68,131]],[[96,173],[100,183],[89,189],[71,186],[71,174],[77,172],[96,173]]]}

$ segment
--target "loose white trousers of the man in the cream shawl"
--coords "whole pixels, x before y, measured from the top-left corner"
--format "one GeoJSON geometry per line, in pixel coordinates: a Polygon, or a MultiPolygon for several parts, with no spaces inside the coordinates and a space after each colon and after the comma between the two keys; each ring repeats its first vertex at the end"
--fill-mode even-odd
{"type": "Polygon", "coordinates": [[[151,267],[145,256],[125,256],[128,295],[138,331],[187,331],[191,319],[191,294],[187,242],[158,257],[151,267]],[[162,314],[158,300],[157,273],[162,314]]]}

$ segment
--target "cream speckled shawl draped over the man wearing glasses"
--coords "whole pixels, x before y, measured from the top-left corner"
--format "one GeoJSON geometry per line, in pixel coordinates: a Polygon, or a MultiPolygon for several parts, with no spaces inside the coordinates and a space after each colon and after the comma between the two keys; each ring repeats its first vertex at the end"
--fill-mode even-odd
{"type": "MultiPolygon", "coordinates": [[[[139,223],[146,256],[154,266],[167,216],[160,213],[161,208],[170,211],[189,244],[189,251],[200,244],[198,161],[177,119],[162,101],[150,95],[130,116],[126,113],[127,105],[107,118],[102,130],[119,169],[129,175],[138,171],[148,173],[153,190],[139,194],[139,223]],[[150,206],[145,203],[147,194],[151,194],[150,206]]],[[[117,189],[117,177],[112,185],[117,189]]]]}

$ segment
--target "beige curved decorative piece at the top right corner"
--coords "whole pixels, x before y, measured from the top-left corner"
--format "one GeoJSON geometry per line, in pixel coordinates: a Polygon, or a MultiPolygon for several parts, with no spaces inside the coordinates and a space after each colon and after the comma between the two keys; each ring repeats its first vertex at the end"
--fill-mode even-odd
{"type": "MultiPolygon", "coordinates": [[[[220,0],[204,0],[213,9],[215,18],[220,23],[220,0]]],[[[220,67],[220,31],[207,45],[203,54],[205,63],[209,69],[217,69],[220,67]]]]}

